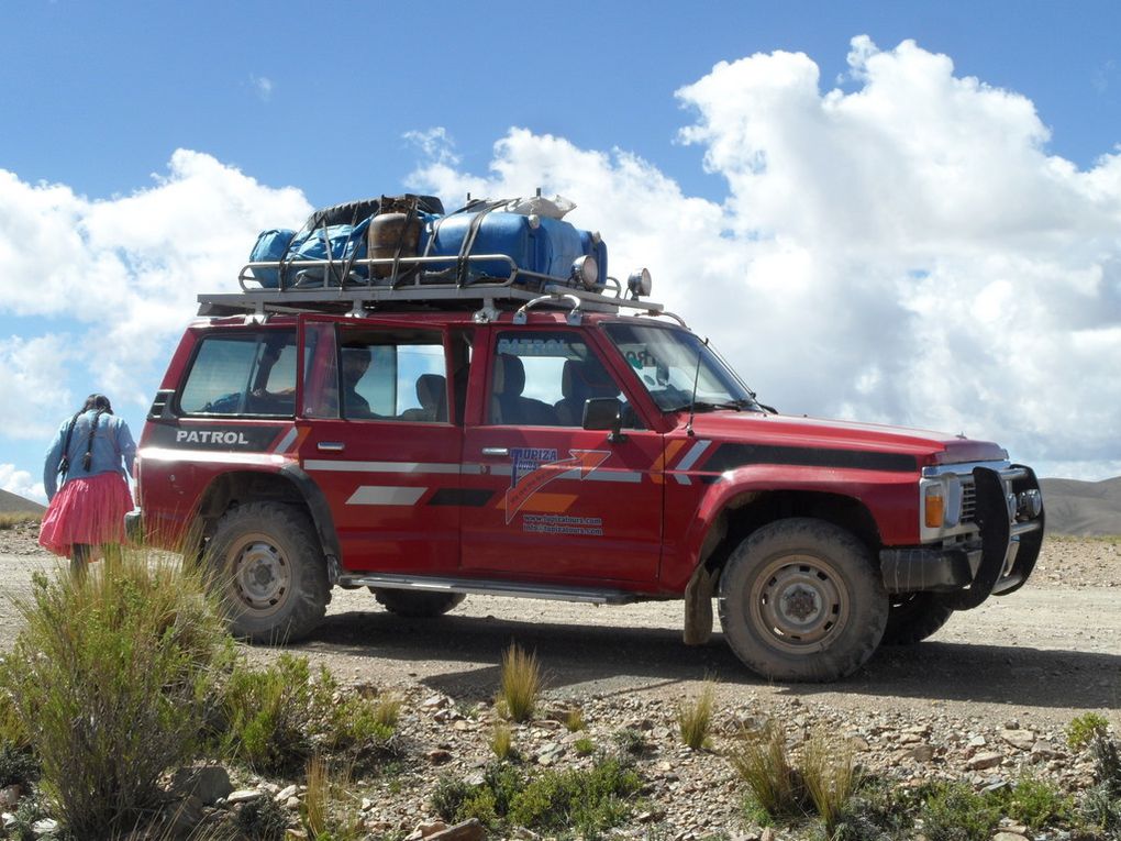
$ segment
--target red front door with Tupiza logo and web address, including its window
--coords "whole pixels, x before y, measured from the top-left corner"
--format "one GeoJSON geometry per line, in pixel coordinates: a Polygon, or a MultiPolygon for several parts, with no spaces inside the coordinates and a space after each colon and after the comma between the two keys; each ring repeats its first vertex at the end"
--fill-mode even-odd
{"type": "MultiPolygon", "coordinates": [[[[471,574],[603,584],[657,577],[661,435],[582,427],[584,400],[621,389],[575,330],[491,331],[482,423],[464,442],[471,574]]],[[[632,413],[624,413],[626,416],[632,413]]]]}

